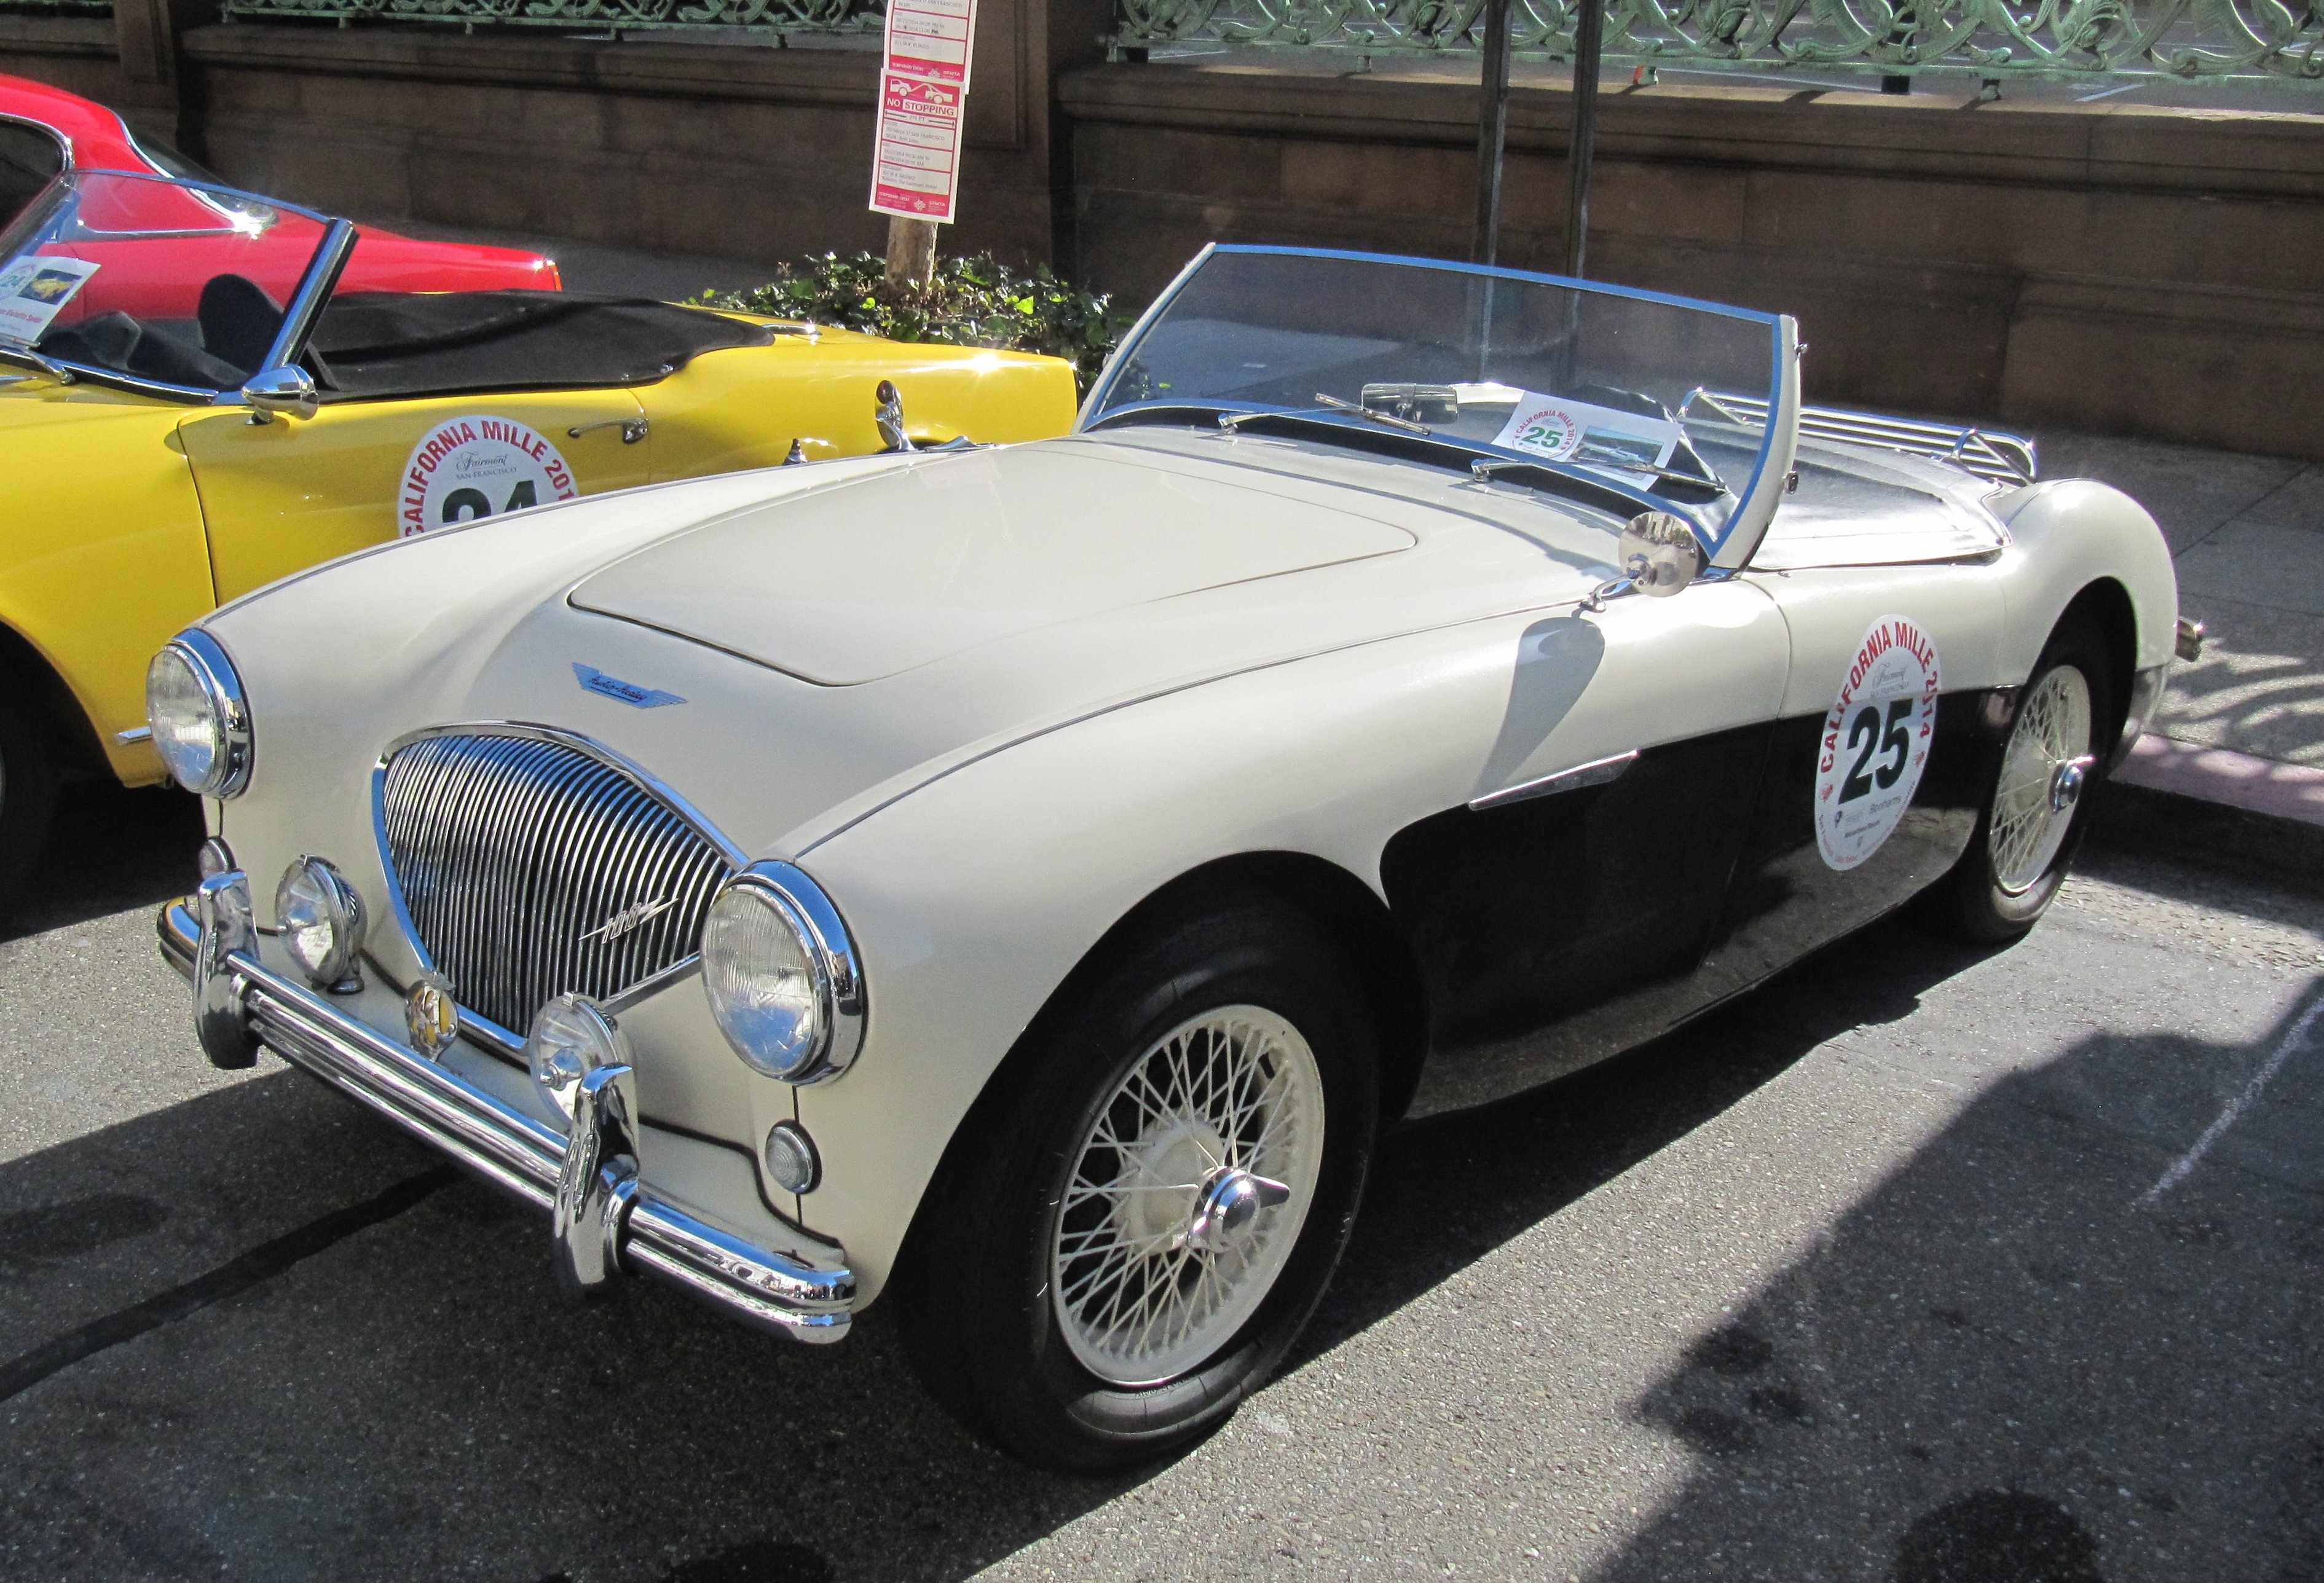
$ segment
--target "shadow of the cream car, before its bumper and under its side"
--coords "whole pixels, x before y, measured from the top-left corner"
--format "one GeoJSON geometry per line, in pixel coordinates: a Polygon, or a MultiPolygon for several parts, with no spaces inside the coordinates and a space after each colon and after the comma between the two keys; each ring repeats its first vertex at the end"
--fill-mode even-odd
{"type": "MultiPolygon", "coordinates": [[[[1376,1181],[1420,1172],[1436,1192],[1373,1192],[1364,1278],[1334,1288],[1304,1358],[1975,960],[1901,925],[1838,951],[1838,1000],[1759,995],[1394,1134],[1376,1181]]],[[[170,1058],[198,1060],[191,1039],[170,1058]]],[[[465,1179],[218,1285],[205,1272],[432,1167],[265,1067],[0,1167],[19,1362],[67,1327],[116,1334],[160,1288],[211,1295],[0,1402],[0,1555],[19,1576],[957,1578],[1155,1471],[1060,1478],[988,1451],[918,1388],[878,1306],[837,1348],[772,1341],[660,1283],[572,1306],[546,1223],[465,1179]]]]}

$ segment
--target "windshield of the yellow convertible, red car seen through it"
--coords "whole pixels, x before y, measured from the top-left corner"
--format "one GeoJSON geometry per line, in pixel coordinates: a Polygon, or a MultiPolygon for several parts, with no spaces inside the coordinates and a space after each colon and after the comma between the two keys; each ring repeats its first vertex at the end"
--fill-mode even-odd
{"type": "Polygon", "coordinates": [[[237,391],[265,367],[325,232],[318,214],[232,188],[65,174],[0,232],[0,356],[237,391]]]}

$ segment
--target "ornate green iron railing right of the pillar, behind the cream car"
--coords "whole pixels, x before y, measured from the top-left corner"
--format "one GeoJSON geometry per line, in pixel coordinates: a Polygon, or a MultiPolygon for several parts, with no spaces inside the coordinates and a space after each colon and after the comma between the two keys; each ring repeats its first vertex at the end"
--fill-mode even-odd
{"type": "MultiPolygon", "coordinates": [[[[1113,58],[1169,44],[1480,49],[1485,0],[1118,0],[1113,58]]],[[[1583,0],[1511,0],[1511,51],[1571,60],[1583,0]]],[[[1606,63],[1727,72],[2324,84],[2324,0],[1606,0],[1606,63]]]]}

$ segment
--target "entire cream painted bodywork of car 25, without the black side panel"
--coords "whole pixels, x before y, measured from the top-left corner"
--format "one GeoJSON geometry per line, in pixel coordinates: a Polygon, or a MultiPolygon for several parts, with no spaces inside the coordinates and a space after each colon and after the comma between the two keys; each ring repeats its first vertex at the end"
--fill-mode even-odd
{"type": "MultiPolygon", "coordinates": [[[[251,788],[218,825],[260,921],[297,853],[328,855],[379,902],[383,748],[428,725],[530,721],[641,765],[741,851],[797,860],[865,960],[867,1044],[844,1076],[792,1090],[748,1072],[693,976],[623,1025],[648,1116],[751,1155],[776,1118],[806,1123],[825,1186],[776,1206],[846,1246],[869,1302],[1023,1027],[1106,927],[1206,860],[1311,853],[1378,893],[1383,846],[1420,818],[1613,753],[1824,711],[1866,625],[1892,611],[1938,635],[1948,690],[2008,686],[2082,588],[2117,579],[2138,662],[2168,658],[2171,563],[2133,502],[2050,484],[1992,516],[1982,486],[1917,467],[1913,488],[1941,507],[1906,530],[1971,544],[1975,560],[1873,565],[1880,549],[1852,535],[1855,565],[1803,565],[1803,546],[1850,535],[1827,516],[1785,537],[1778,514],[1780,565],[1599,611],[1578,604],[1613,574],[1613,518],[1260,437],[1118,430],[546,507],[216,614],[258,723],[251,788]],[[895,525],[916,502],[953,509],[946,495],[983,502],[957,507],[981,511],[974,532],[895,525]],[[1208,521],[1169,525],[1176,502],[1208,521]],[[1102,511],[1118,511],[1109,528],[1157,523],[1155,539],[1116,535],[1120,553],[1060,570],[1081,549],[1074,523],[1102,511]],[[932,574],[939,551],[957,576],[932,574]],[[809,574],[786,581],[786,567],[809,574]],[[576,588],[627,618],[579,609],[576,588]],[[574,662],[686,702],[586,693],[574,662]]],[[[386,911],[374,904],[372,953],[400,981],[416,958],[386,911]]],[[[360,1013],[383,1007],[372,995],[360,1013]]],[[[739,1155],[681,1153],[667,1169],[690,1209],[767,1234],[739,1155]]]]}

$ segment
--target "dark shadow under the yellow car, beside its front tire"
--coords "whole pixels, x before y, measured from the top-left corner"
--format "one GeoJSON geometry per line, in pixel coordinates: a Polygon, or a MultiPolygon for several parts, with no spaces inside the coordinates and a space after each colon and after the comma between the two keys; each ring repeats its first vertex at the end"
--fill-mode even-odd
{"type": "Polygon", "coordinates": [[[174,786],[65,786],[46,848],[0,907],[0,941],[186,895],[200,846],[202,804],[174,786]]]}

